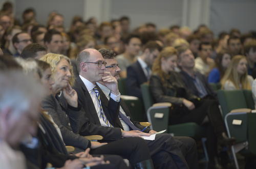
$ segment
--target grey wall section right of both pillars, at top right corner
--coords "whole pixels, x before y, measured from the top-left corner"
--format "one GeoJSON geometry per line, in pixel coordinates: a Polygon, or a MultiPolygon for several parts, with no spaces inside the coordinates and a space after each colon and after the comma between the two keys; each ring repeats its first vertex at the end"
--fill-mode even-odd
{"type": "Polygon", "coordinates": [[[242,33],[256,30],[255,0],[212,0],[210,27],[215,33],[236,27],[242,33]]]}

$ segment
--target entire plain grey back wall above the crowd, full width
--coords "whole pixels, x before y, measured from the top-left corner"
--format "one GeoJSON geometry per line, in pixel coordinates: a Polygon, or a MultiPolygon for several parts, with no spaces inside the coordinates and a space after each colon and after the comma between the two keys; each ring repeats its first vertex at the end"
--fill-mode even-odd
{"type": "MultiPolygon", "coordinates": [[[[193,14],[201,11],[201,16],[204,13],[206,0],[10,0],[14,3],[15,13],[17,18],[21,18],[22,12],[32,7],[37,12],[37,20],[39,23],[46,24],[48,14],[52,11],[57,11],[65,17],[65,27],[68,30],[70,22],[75,15],[84,16],[86,9],[90,9],[86,4],[97,2],[101,4],[95,13],[97,16],[105,17],[97,18],[103,21],[106,18],[116,19],[122,15],[127,15],[131,18],[131,27],[137,27],[145,22],[151,21],[157,24],[158,28],[169,27],[172,24],[186,25],[189,23],[200,22],[199,19],[193,20],[193,14]],[[86,3],[87,2],[87,3],[86,3]],[[106,5],[108,3],[108,5],[106,5]],[[191,5],[199,4],[193,7],[191,5]],[[187,6],[184,6],[187,4],[187,6]],[[108,9],[107,9],[108,8],[108,9]],[[104,13],[102,12],[104,11],[104,13]],[[109,11],[109,12],[108,12],[109,11]],[[184,18],[184,15],[185,18],[184,18]],[[190,16],[190,17],[189,17],[190,16]],[[190,19],[190,20],[189,20],[190,19]],[[184,20],[186,20],[184,22],[184,20]]],[[[221,31],[229,31],[232,27],[236,27],[245,33],[250,30],[256,30],[256,1],[255,0],[207,0],[210,5],[209,26],[214,31],[215,35],[221,31]]],[[[0,0],[0,5],[5,1],[0,0]]],[[[88,10],[87,10],[88,11],[88,10]]],[[[199,24],[199,23],[198,23],[199,24]]],[[[182,25],[182,26],[183,26],[182,25]]],[[[192,27],[194,28],[194,27],[192,27]]]]}

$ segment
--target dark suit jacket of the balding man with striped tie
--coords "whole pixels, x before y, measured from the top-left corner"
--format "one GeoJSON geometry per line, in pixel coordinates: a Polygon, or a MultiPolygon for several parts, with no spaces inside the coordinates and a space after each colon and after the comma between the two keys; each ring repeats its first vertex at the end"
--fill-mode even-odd
{"type": "MultiPolygon", "coordinates": [[[[75,81],[74,89],[78,95],[78,104],[82,106],[83,112],[80,121],[79,133],[84,134],[99,134],[104,138],[102,141],[113,141],[121,138],[120,128],[103,127],[100,124],[96,109],[94,107],[92,98],[83,84],[81,78],[78,76],[75,81]]],[[[103,92],[98,87],[100,97],[103,92]]],[[[114,126],[113,120],[117,118],[117,111],[119,111],[119,103],[111,99],[109,104],[105,104],[105,100],[101,98],[102,108],[106,118],[114,126]]]]}

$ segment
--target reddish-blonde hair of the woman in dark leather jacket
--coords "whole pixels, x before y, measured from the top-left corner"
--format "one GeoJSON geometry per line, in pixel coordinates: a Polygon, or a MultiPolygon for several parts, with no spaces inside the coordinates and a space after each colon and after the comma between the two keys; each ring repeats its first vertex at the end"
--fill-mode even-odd
{"type": "Polygon", "coordinates": [[[168,46],[163,48],[163,50],[159,53],[158,57],[154,61],[152,72],[153,74],[159,75],[163,83],[166,77],[168,77],[168,74],[162,70],[162,58],[166,60],[173,55],[177,55],[177,50],[174,47],[168,46]]]}

